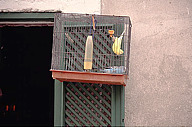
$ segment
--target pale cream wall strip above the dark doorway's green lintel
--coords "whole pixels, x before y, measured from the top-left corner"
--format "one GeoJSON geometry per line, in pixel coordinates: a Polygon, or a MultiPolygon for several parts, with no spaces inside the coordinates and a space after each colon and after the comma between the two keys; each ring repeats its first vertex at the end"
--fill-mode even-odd
{"type": "Polygon", "coordinates": [[[2,12],[55,12],[100,14],[100,0],[0,0],[2,12]]]}

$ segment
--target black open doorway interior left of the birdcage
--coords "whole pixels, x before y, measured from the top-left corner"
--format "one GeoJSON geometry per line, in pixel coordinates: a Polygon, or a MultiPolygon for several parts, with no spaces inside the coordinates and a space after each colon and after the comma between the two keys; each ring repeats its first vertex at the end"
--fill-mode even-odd
{"type": "Polygon", "coordinates": [[[0,126],[53,126],[53,27],[0,28],[0,126]]]}

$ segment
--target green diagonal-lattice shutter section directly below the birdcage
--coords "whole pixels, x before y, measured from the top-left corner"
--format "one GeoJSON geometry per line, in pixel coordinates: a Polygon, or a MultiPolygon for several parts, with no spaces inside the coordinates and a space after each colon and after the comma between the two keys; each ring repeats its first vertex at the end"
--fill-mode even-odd
{"type": "Polygon", "coordinates": [[[55,82],[55,126],[124,126],[124,86],[55,82]]]}

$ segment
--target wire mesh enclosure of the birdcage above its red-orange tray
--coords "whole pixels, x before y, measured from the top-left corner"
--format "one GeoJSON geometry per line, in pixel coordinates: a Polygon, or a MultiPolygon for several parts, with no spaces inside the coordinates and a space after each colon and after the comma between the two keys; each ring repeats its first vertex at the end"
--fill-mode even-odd
{"type": "Polygon", "coordinates": [[[57,13],[54,21],[51,69],[86,71],[85,46],[90,34],[93,55],[92,69],[89,71],[128,74],[130,19],[127,16],[57,13]],[[114,30],[112,36],[109,30],[114,30]]]}

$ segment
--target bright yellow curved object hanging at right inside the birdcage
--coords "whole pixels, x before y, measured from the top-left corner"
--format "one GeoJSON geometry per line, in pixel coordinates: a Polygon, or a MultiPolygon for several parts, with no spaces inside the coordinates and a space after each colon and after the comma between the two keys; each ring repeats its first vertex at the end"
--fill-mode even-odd
{"type": "Polygon", "coordinates": [[[124,32],[125,32],[125,30],[123,31],[123,33],[121,34],[121,36],[119,38],[115,37],[115,41],[112,46],[113,52],[117,55],[123,54],[123,50],[121,49],[121,42],[122,42],[124,32]]]}

